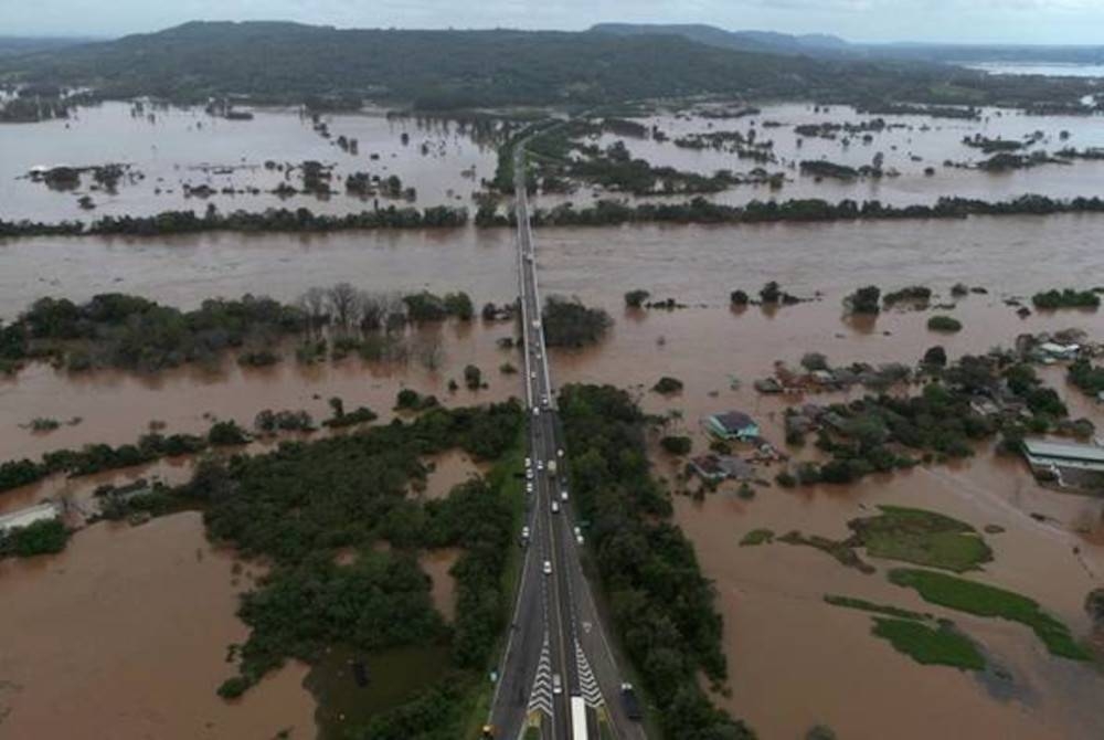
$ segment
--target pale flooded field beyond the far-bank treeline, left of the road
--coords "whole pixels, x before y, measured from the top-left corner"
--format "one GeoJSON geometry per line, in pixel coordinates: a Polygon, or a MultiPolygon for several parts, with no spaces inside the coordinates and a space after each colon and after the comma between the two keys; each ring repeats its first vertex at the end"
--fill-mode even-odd
{"type": "MultiPolygon", "coordinates": [[[[388,120],[382,112],[325,116],[332,138],[311,130],[309,118],[296,110],[255,110],[250,121],[208,116],[201,108],[155,110],[155,120],[132,117],[125,103],[81,108],[68,120],[0,126],[0,219],[60,221],[100,215],[148,215],[167,210],[203,211],[209,203],[220,211],[263,211],[266,208],[309,208],[315,212],[347,213],[372,208],[372,200],[350,198],[344,178],[368,171],[386,179],[399,175],[404,187],[417,190],[418,205],[469,201],[479,178],[493,177],[496,154],[466,136],[440,126],[418,127],[413,119],[388,120]],[[410,137],[402,144],[402,135],[410,137]],[[339,135],[357,138],[359,154],[335,146],[339,135]],[[422,145],[426,146],[423,154],[422,145]],[[372,155],[378,159],[372,159],[372,155]],[[265,161],[298,165],[314,159],[333,165],[329,199],[269,194],[285,181],[283,172],[265,161]],[[38,166],[89,167],[120,162],[142,172],[144,180],[119,184],[115,194],[92,190],[91,175],[82,187],[67,192],[49,190],[24,176],[38,166]],[[220,168],[221,172],[210,168],[220,168]],[[468,175],[461,175],[467,171],[468,175]],[[209,186],[216,191],[257,188],[261,194],[222,194],[187,198],[183,186],[209,186]],[[160,190],[160,192],[157,192],[160,190]],[[89,194],[97,207],[84,211],[77,197],[89,194]]],[[[289,184],[299,188],[296,173],[289,184]]],[[[385,203],[386,201],[384,201],[385,203]]],[[[403,203],[404,201],[400,201],[403,203]]]]}

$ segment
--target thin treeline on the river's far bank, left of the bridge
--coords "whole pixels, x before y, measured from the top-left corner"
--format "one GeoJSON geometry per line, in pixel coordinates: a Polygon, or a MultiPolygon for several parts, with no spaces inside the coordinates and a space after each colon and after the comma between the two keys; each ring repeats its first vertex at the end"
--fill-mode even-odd
{"type": "Polygon", "coordinates": [[[194,211],[163,211],[148,216],[105,215],[89,223],[62,221],[0,220],[2,236],[156,236],[194,234],[210,231],[247,233],[329,232],[378,229],[455,229],[468,222],[468,211],[450,205],[386,208],[340,215],[315,213],[308,208],[270,208],[261,212],[220,213],[209,208],[203,215],[194,211]]]}

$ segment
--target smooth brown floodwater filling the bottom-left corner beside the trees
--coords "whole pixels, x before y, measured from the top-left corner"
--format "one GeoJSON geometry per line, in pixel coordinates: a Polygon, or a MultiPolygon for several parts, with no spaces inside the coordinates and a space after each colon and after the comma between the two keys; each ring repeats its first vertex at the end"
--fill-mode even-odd
{"type": "Polygon", "coordinates": [[[61,556],[0,563],[0,734],[6,738],[314,738],[306,667],[288,665],[236,705],[215,688],[242,642],[234,559],[199,514],[97,525],[61,556]],[[98,688],[92,688],[98,687],[98,688]]]}

